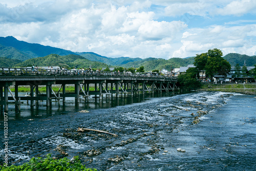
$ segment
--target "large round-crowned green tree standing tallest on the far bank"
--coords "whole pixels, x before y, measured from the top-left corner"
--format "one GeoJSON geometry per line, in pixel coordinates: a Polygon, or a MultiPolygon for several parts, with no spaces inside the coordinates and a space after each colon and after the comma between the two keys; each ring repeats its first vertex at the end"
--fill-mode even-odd
{"type": "Polygon", "coordinates": [[[197,54],[194,65],[198,71],[205,71],[206,75],[212,79],[214,75],[220,74],[226,76],[231,70],[231,66],[223,57],[221,50],[209,49],[207,53],[197,54]]]}

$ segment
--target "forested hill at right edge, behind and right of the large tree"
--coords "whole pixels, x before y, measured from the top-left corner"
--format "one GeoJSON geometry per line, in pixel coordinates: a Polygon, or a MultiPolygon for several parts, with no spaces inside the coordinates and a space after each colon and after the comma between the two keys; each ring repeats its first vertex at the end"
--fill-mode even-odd
{"type": "Polygon", "coordinates": [[[248,56],[248,55],[241,55],[238,53],[229,53],[223,57],[226,59],[232,67],[236,66],[237,63],[242,67],[244,65],[244,61],[246,66],[254,66],[256,65],[256,56],[248,56]]]}

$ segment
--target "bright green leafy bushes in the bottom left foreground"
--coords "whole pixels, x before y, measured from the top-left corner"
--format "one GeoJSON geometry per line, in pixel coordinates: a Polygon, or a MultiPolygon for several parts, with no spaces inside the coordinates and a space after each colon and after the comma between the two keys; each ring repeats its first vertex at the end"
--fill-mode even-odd
{"type": "Polygon", "coordinates": [[[83,164],[81,164],[81,161],[79,160],[79,157],[76,156],[73,158],[74,160],[68,160],[66,157],[62,159],[53,159],[51,158],[51,155],[48,154],[45,159],[42,159],[40,157],[38,158],[32,158],[30,162],[24,163],[23,165],[15,166],[0,166],[0,170],[2,171],[9,171],[9,170],[15,170],[15,171],[22,171],[22,170],[31,170],[31,171],[45,171],[45,170],[58,170],[58,171],[95,171],[97,169],[95,168],[86,168],[83,164]]]}

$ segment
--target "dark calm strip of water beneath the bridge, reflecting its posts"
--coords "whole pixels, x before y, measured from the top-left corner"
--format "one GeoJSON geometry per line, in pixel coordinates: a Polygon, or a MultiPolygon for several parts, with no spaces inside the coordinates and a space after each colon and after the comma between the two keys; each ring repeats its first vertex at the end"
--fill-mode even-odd
{"type": "MultiPolygon", "coordinates": [[[[47,106],[46,101],[38,101],[30,106],[30,101],[22,101],[20,106],[20,112],[15,110],[14,104],[9,104],[8,115],[13,119],[21,119],[23,117],[40,117],[40,116],[52,116],[58,114],[68,114],[72,112],[78,112],[80,110],[88,109],[105,109],[114,108],[116,106],[122,106],[133,103],[140,103],[145,100],[156,97],[169,97],[175,95],[174,92],[169,93],[147,93],[147,94],[135,94],[133,97],[130,95],[123,95],[120,97],[110,96],[103,97],[102,99],[90,97],[88,101],[84,98],[80,99],[80,103],[75,103],[74,98],[66,98],[65,102],[52,100],[52,105],[47,106]]],[[[3,108],[1,108],[0,119],[3,120],[3,108]]]]}

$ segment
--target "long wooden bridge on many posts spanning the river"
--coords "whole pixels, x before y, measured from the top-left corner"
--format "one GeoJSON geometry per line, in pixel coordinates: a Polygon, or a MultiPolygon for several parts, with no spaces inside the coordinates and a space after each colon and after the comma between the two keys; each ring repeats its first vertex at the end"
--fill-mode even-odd
{"type": "Polygon", "coordinates": [[[74,97],[75,103],[83,97],[88,101],[89,97],[102,99],[103,95],[119,97],[144,94],[145,92],[174,91],[177,78],[152,74],[132,74],[128,72],[96,72],[82,70],[58,70],[58,69],[32,69],[32,68],[0,68],[0,105],[8,112],[8,103],[15,103],[15,111],[20,111],[21,101],[30,101],[30,105],[38,105],[41,100],[50,106],[52,99],[62,100],[66,97],[74,97]],[[54,84],[59,84],[57,92],[52,90],[54,84]],[[66,92],[66,86],[73,84],[75,91],[66,92]],[[90,85],[91,84],[91,85],[90,85]],[[89,86],[90,85],[90,86],[89,86]],[[14,87],[14,93],[10,86],[14,87]],[[28,96],[19,96],[19,86],[30,86],[28,96]],[[46,93],[41,94],[38,87],[46,87],[46,93]],[[94,87],[90,91],[89,87],[94,87]],[[34,104],[35,102],[35,104],[34,104]]]}

